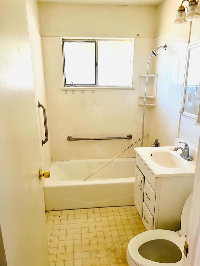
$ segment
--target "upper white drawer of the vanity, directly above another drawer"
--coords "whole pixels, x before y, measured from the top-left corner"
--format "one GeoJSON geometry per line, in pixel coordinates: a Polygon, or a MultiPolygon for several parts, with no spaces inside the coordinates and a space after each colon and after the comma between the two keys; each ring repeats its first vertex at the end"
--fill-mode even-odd
{"type": "Polygon", "coordinates": [[[144,182],[144,202],[147,204],[152,215],[154,215],[155,200],[156,200],[156,192],[153,190],[153,188],[149,185],[148,181],[145,179],[145,182],[144,182]]]}

